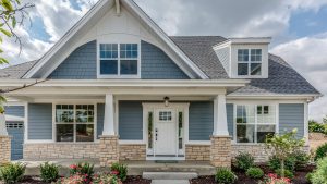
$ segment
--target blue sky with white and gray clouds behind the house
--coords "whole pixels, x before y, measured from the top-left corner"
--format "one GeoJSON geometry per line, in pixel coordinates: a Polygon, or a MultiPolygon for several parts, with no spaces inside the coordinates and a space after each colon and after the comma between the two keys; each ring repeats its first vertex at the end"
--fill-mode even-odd
{"type": "MultiPolygon", "coordinates": [[[[29,0],[27,0],[29,1],[29,0]]],[[[24,50],[7,40],[12,64],[40,58],[97,0],[35,0],[32,26],[20,27],[24,50]]],[[[271,36],[281,56],[327,95],[327,0],[135,0],[168,35],[271,36]]],[[[310,116],[327,114],[327,97],[310,105],[310,116]]]]}

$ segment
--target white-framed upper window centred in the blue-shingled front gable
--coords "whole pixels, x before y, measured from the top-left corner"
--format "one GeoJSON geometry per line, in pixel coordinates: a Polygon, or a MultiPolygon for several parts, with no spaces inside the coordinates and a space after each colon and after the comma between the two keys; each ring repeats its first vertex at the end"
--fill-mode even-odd
{"type": "Polygon", "coordinates": [[[137,44],[100,44],[100,75],[137,76],[138,45],[137,44]]]}

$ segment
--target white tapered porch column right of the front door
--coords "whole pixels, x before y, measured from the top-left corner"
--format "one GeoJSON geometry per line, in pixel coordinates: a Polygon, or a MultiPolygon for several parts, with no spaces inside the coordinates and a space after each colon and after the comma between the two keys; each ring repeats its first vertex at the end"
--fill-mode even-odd
{"type": "Polygon", "coordinates": [[[218,95],[214,100],[214,136],[229,136],[226,112],[226,95],[218,95]]]}

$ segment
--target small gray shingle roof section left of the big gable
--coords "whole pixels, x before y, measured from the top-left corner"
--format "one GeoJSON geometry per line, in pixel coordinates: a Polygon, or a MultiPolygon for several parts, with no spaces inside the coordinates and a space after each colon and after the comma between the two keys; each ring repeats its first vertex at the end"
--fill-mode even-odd
{"type": "Polygon", "coordinates": [[[11,65],[0,70],[0,79],[19,79],[37,62],[29,61],[17,65],[11,65]]]}

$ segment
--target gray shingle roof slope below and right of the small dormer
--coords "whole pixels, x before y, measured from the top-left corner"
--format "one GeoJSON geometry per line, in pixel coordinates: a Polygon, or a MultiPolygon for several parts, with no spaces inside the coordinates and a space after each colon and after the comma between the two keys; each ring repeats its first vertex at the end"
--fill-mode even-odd
{"type": "Polygon", "coordinates": [[[230,95],[303,95],[316,90],[304,77],[292,69],[282,58],[269,54],[268,78],[251,79],[251,83],[230,95]]]}

